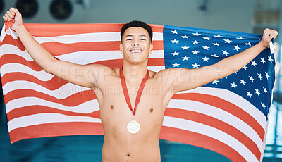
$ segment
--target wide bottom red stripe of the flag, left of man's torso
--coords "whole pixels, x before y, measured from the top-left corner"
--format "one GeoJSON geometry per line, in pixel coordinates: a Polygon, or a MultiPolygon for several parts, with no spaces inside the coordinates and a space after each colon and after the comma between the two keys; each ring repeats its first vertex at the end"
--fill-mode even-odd
{"type": "Polygon", "coordinates": [[[9,132],[11,143],[21,139],[66,135],[104,135],[102,123],[68,122],[20,127],[9,132]],[[87,127],[87,129],[85,129],[87,127]]]}

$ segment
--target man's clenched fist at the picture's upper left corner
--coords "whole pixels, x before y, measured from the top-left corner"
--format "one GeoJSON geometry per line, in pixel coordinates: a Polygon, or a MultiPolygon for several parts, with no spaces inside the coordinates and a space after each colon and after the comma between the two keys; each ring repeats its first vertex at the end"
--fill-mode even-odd
{"type": "Polygon", "coordinates": [[[20,25],[23,25],[22,14],[20,14],[20,12],[15,8],[10,8],[10,10],[8,10],[3,16],[3,19],[6,21],[15,19],[15,23],[11,26],[11,30],[16,30],[16,28],[18,28],[20,25]]]}

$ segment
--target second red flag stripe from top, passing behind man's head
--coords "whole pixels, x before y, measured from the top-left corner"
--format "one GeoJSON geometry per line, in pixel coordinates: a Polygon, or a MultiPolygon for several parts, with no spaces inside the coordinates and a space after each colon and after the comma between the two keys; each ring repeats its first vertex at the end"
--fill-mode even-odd
{"type": "MultiPolygon", "coordinates": [[[[59,56],[77,51],[119,51],[120,41],[111,42],[79,42],[62,44],[58,42],[45,42],[41,45],[52,55],[59,56]]],[[[154,50],[164,50],[163,41],[153,41],[154,50]]]]}

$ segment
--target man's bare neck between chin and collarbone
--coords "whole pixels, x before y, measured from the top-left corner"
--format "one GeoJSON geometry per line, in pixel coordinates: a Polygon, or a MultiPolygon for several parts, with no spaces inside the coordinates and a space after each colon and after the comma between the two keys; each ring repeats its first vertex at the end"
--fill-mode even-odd
{"type": "Polygon", "coordinates": [[[147,64],[131,65],[123,62],[123,75],[127,82],[141,82],[147,73],[147,64]]]}

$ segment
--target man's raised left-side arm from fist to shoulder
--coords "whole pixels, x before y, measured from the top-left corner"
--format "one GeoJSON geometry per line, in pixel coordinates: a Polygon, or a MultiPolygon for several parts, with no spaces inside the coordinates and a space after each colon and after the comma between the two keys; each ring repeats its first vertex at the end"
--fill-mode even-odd
{"type": "Polygon", "coordinates": [[[75,85],[93,87],[94,85],[97,86],[98,74],[112,72],[111,68],[102,65],[81,66],[67,61],[57,60],[30,35],[30,32],[23,25],[21,14],[15,8],[7,11],[3,18],[6,21],[15,19],[15,23],[11,26],[11,29],[17,32],[20,41],[30,56],[47,73],[56,75],[75,85]]]}

